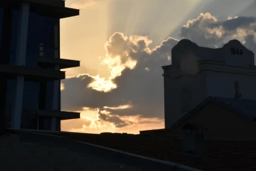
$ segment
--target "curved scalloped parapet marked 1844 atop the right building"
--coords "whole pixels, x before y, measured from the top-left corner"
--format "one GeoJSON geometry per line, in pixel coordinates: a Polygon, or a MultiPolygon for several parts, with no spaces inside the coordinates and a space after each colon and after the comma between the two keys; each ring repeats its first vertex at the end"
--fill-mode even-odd
{"type": "Polygon", "coordinates": [[[238,40],[230,40],[222,48],[213,49],[200,47],[190,40],[183,39],[172,48],[172,65],[177,65],[186,57],[194,57],[199,61],[224,62],[238,67],[254,65],[254,53],[238,40]]]}

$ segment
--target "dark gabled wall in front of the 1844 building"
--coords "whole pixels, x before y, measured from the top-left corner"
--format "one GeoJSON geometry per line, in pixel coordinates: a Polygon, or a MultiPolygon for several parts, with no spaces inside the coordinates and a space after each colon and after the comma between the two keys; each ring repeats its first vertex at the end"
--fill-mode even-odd
{"type": "Polygon", "coordinates": [[[214,139],[256,139],[256,122],[224,109],[218,104],[209,103],[207,106],[180,126],[174,133],[182,136],[181,127],[187,123],[198,123],[208,128],[205,137],[214,139]]]}

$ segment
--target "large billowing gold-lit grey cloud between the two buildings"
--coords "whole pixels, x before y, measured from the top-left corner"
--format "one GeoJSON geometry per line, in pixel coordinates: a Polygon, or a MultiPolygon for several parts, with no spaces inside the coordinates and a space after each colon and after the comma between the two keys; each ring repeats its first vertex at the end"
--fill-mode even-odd
{"type": "Polygon", "coordinates": [[[62,90],[62,109],[81,111],[83,107],[92,107],[103,111],[104,106],[109,106],[107,111],[111,111],[112,115],[147,113],[148,117],[157,115],[163,118],[161,65],[170,64],[171,48],[178,41],[168,38],[152,50],[148,48],[151,42],[147,37],[113,34],[105,45],[106,56],[101,57],[102,65],[108,65],[109,71],[113,73],[111,77],[83,74],[65,79],[62,81],[65,85],[62,90]],[[136,65],[128,65],[128,61],[136,61],[136,65]],[[115,68],[121,69],[117,71],[115,68]],[[127,104],[131,107],[113,107],[127,104]]]}

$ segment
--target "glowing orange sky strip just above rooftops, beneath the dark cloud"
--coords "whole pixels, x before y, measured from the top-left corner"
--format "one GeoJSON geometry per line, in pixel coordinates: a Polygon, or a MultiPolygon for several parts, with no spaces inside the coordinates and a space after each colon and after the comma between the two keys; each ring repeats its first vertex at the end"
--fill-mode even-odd
{"type": "MultiPolygon", "coordinates": [[[[125,109],[127,107],[131,107],[129,104],[117,106],[117,107],[109,107],[109,109],[125,109]]],[[[164,120],[160,118],[142,118],[141,115],[133,115],[133,116],[118,116],[121,120],[133,124],[127,125],[123,128],[116,128],[113,123],[106,122],[101,120],[99,117],[99,112],[104,112],[104,114],[109,116],[109,112],[107,112],[108,107],[104,107],[103,111],[100,109],[90,109],[89,107],[84,107],[84,111],[76,111],[81,113],[81,118],[75,120],[63,120],[61,122],[62,131],[70,131],[70,132],[79,132],[79,133],[132,133],[138,134],[139,131],[147,129],[161,129],[164,125],[164,120]],[[106,111],[106,112],[105,112],[106,111]],[[73,122],[72,122],[73,121],[73,122]],[[78,128],[77,125],[81,125],[78,128]]]]}

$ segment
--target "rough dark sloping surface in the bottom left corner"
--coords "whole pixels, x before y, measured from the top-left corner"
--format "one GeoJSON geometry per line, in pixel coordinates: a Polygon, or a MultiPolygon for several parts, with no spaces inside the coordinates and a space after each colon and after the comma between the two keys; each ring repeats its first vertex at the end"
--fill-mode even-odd
{"type": "Polygon", "coordinates": [[[0,170],[80,171],[125,170],[142,171],[122,162],[114,162],[98,155],[79,153],[54,145],[36,144],[20,140],[18,134],[0,137],[0,170]],[[13,164],[14,162],[14,164],[13,164]]]}

